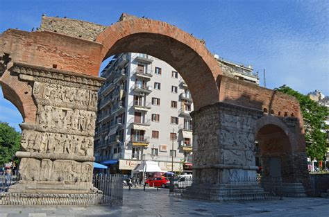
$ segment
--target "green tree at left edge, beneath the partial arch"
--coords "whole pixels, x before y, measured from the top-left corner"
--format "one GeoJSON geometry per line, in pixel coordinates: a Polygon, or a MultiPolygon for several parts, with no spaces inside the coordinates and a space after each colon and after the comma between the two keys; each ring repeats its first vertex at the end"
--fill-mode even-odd
{"type": "Polygon", "coordinates": [[[15,128],[0,121],[0,166],[12,160],[12,156],[19,150],[20,140],[21,134],[15,128]]]}

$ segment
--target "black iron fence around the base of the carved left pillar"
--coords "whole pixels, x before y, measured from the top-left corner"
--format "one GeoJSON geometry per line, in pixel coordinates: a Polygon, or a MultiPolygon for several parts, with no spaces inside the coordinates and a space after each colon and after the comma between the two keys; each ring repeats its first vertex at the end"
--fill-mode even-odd
{"type": "Polygon", "coordinates": [[[10,193],[19,175],[0,175],[0,205],[122,205],[123,176],[94,175],[90,182],[76,182],[63,186],[62,193],[10,193]],[[37,198],[37,199],[35,199],[37,198]],[[15,203],[16,202],[16,203],[15,203]]]}

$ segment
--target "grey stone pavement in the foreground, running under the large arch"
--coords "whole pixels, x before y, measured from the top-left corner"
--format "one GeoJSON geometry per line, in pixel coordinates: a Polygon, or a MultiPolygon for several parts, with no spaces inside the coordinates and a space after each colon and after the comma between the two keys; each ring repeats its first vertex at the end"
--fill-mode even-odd
{"type": "Polygon", "coordinates": [[[169,197],[169,189],[124,189],[122,207],[0,207],[11,216],[329,216],[327,198],[283,198],[247,202],[208,202],[169,197]]]}

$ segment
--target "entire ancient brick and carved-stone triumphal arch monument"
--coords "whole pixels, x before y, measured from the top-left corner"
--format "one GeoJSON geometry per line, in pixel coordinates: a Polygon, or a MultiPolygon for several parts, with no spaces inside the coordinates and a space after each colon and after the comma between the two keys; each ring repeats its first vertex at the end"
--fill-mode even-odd
{"type": "Polygon", "coordinates": [[[221,200],[225,191],[219,189],[232,177],[255,177],[255,134],[269,116],[287,125],[296,141],[287,153],[299,165],[289,162],[292,175],[307,177],[296,98],[230,78],[189,33],[126,14],[111,26],[42,17],[36,32],[9,29],[0,35],[3,95],[24,118],[22,150],[16,154],[22,180],[9,193],[46,198],[51,193],[53,204],[62,204],[63,194],[71,193],[71,200],[87,194],[90,200],[81,203],[96,203],[93,136],[97,90],[103,83],[98,73],[103,60],[123,52],[165,60],[189,86],[195,107],[193,191],[221,200]]]}

